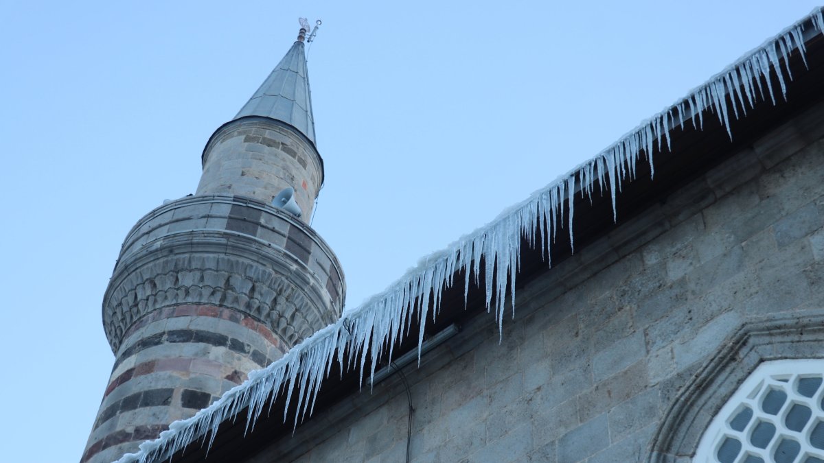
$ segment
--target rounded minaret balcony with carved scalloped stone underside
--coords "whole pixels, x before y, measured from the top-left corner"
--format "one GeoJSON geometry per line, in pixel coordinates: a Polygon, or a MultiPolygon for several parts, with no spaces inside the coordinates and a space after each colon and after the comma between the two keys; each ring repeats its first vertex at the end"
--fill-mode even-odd
{"type": "Polygon", "coordinates": [[[113,351],[141,317],[166,306],[225,306],[292,346],[339,316],[345,285],[335,256],[305,224],[262,203],[180,199],[129,233],[106,289],[113,351]]]}

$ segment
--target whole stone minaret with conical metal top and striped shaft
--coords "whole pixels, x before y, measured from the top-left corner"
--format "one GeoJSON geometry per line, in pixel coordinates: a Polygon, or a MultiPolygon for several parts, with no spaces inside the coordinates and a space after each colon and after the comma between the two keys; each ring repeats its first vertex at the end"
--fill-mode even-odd
{"type": "Polygon", "coordinates": [[[137,451],[340,316],[344,274],[307,225],[323,161],[306,33],[209,138],[197,193],[126,236],[103,298],[115,367],[82,461],[137,451]],[[288,188],[300,217],[272,203],[288,188]]]}

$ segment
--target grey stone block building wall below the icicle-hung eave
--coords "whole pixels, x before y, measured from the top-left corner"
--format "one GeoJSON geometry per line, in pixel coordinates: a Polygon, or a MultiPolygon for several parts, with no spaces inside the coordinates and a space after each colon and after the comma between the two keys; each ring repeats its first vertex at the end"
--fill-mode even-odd
{"type": "MultiPolygon", "coordinates": [[[[481,314],[405,367],[411,461],[688,461],[757,362],[824,357],[822,135],[818,107],[638,217],[619,211],[517,293],[502,342],[481,314]]],[[[407,419],[393,376],[253,461],[404,461],[407,419]]]]}

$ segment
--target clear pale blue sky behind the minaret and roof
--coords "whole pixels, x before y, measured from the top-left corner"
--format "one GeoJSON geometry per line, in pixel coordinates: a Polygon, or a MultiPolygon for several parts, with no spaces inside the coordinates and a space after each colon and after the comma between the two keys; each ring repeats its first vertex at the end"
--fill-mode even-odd
{"type": "Polygon", "coordinates": [[[114,361],[101,299],[120,244],[194,192],[209,135],[298,16],[323,20],[313,227],[353,308],[814,6],[0,0],[2,460],[79,460],[114,361]]]}

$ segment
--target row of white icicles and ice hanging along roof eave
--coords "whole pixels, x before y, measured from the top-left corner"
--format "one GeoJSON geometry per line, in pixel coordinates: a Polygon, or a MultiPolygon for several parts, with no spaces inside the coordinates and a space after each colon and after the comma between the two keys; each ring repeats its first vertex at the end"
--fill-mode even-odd
{"type": "MultiPolygon", "coordinates": [[[[161,433],[157,440],[143,442],[138,453],[125,455],[120,462],[160,461],[198,438],[211,446],[218,426],[225,419],[248,407],[246,427],[251,428],[266,403],[274,401],[283,392],[287,395],[286,409],[293,400],[297,401],[298,413],[294,418],[297,424],[298,419],[311,414],[321,382],[329,375],[333,362],[339,363],[341,372],[348,371],[349,367],[359,367],[363,381],[364,374],[374,373],[378,360],[387,354],[384,352],[386,348],[391,358],[392,346],[408,332],[407,328],[413,320],[419,320],[419,333],[423,336],[428,316],[434,318],[437,315],[428,313],[429,298],[434,297],[433,310],[437,312],[442,290],[452,286],[452,278],[457,271],[466,270],[466,283],[469,283],[471,274],[478,278],[481,257],[485,263],[485,280],[477,283],[485,288],[487,310],[494,310],[500,325],[508,281],[514,311],[515,278],[522,236],[528,238],[531,246],[541,246],[542,252],[549,255],[559,227],[565,224],[570,238],[573,237],[574,195],[591,197],[595,189],[600,194],[608,190],[613,214],[616,214],[616,194],[620,193],[621,182],[634,178],[635,163],[642,152],[652,166],[653,145],[657,143],[659,151],[662,143],[666,143],[668,148],[672,129],[685,123],[701,129],[704,118],[714,113],[729,133],[731,116],[746,117],[747,108],[752,108],[757,102],[763,104],[770,101],[775,104],[776,98],[784,98],[785,83],[792,79],[789,54],[800,53],[803,57],[804,41],[821,34],[822,26],[824,16],[822,9],[817,8],[761,47],[739,58],[683,100],[648,119],[596,157],[509,208],[489,225],[456,241],[447,249],[429,255],[385,292],[297,344],[269,367],[251,372],[246,382],[227,391],[207,409],[200,410],[190,419],[171,423],[169,430],[161,433]],[[805,26],[808,26],[807,30],[805,26]],[[783,67],[781,60],[784,61],[783,67]],[[770,72],[775,74],[780,88],[772,87],[770,72]],[[564,203],[569,208],[565,212],[564,203]],[[364,371],[367,359],[371,361],[372,371],[369,372],[364,371]]],[[[466,284],[468,287],[469,284],[466,284]]],[[[283,410],[284,420],[287,418],[286,409],[283,410]]]]}

